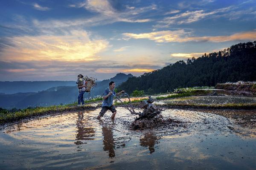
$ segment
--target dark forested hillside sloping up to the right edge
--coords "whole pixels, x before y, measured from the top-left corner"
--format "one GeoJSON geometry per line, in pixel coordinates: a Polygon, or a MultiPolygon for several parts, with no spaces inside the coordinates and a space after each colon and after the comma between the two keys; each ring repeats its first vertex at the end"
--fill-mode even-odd
{"type": "Polygon", "coordinates": [[[256,41],[232,45],[224,51],[183,60],[162,69],[131,77],[119,88],[131,93],[163,93],[179,87],[215,86],[221,82],[256,80],[256,41]]]}

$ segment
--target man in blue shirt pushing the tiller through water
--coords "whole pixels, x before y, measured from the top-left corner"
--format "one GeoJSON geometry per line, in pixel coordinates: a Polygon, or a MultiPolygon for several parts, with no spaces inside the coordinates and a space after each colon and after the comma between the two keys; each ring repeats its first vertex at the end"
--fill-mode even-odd
{"type": "Polygon", "coordinates": [[[120,94],[124,93],[125,91],[120,91],[119,93],[116,94],[114,91],[115,88],[115,82],[111,81],[109,83],[109,88],[106,88],[103,94],[103,103],[102,103],[102,110],[99,112],[99,116],[97,119],[100,119],[106,111],[110,110],[113,114],[111,116],[111,119],[114,119],[116,116],[116,108],[113,106],[113,98],[114,95],[119,96],[120,94]]]}

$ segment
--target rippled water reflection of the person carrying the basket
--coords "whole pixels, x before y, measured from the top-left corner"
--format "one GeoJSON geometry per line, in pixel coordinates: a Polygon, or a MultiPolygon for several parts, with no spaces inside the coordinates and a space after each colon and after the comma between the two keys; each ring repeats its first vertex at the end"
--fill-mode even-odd
{"type": "Polygon", "coordinates": [[[93,127],[88,127],[88,116],[85,116],[84,119],[84,112],[79,111],[77,113],[78,119],[76,120],[76,142],[74,142],[77,145],[84,144],[86,142],[82,142],[84,140],[93,140],[94,138],[91,138],[95,136],[95,130],[93,127]]]}

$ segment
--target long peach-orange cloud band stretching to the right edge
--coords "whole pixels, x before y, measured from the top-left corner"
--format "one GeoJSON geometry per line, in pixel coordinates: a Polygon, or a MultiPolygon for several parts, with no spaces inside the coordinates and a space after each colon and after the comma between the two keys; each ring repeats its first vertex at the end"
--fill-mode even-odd
{"type": "Polygon", "coordinates": [[[184,30],[178,31],[156,31],[143,34],[123,33],[125,37],[134,39],[149,39],[155,42],[226,42],[235,40],[255,40],[256,30],[236,33],[227,36],[204,36],[204,37],[189,37],[191,33],[184,30]]]}

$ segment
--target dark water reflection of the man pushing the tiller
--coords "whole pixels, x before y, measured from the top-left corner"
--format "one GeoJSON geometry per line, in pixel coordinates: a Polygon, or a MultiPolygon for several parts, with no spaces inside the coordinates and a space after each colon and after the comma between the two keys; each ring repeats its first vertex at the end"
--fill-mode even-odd
{"type": "Polygon", "coordinates": [[[102,127],[102,135],[103,135],[103,150],[108,151],[108,156],[110,158],[115,157],[115,142],[113,139],[113,132],[111,127],[102,127]]]}

